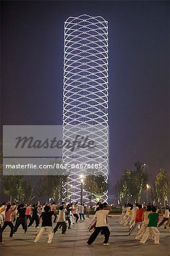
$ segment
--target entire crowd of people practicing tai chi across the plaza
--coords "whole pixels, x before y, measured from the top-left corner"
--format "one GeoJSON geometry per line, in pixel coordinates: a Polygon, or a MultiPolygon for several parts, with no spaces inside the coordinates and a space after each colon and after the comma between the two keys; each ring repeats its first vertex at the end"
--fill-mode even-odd
{"type": "MultiPolygon", "coordinates": [[[[86,242],[87,245],[91,245],[99,234],[104,235],[103,245],[109,245],[110,210],[107,203],[97,203],[94,208],[94,216],[88,226],[89,231],[93,231],[93,233],[86,242]]],[[[13,237],[20,225],[22,225],[24,233],[27,233],[28,229],[35,225],[37,232],[34,243],[38,243],[44,232],[47,231],[47,243],[51,244],[54,234],[60,228],[61,234],[65,234],[78,220],[84,221],[84,212],[89,218],[90,206],[78,204],[78,202],[74,204],[62,202],[60,207],[57,207],[55,202],[52,204],[45,202],[44,205],[40,205],[40,201],[33,205],[2,203],[0,207],[0,243],[3,244],[2,233],[7,226],[10,227],[9,236],[13,237]],[[52,221],[56,222],[55,228],[52,227],[52,221]]],[[[160,227],[165,223],[165,229],[170,226],[169,208],[167,207],[163,214],[162,209],[157,209],[154,205],[124,204],[117,223],[127,228],[128,235],[136,233],[135,239],[139,240],[140,244],[144,244],[149,239],[154,240],[157,245],[160,244],[157,224],[159,223],[158,227],[160,227]],[[163,219],[159,222],[161,216],[163,219]]]]}

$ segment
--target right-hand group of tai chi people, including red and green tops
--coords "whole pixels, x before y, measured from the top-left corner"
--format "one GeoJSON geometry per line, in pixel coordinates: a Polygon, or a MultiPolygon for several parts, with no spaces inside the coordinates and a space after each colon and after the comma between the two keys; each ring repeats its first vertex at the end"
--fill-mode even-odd
{"type": "Polygon", "coordinates": [[[159,217],[164,216],[163,220],[159,223],[158,227],[167,222],[164,228],[170,226],[169,207],[165,209],[163,214],[162,209],[158,209],[154,205],[142,205],[142,204],[125,204],[122,207],[121,217],[117,220],[119,225],[124,227],[128,226],[128,235],[133,234],[136,229],[139,228],[139,232],[136,234],[135,239],[140,240],[140,244],[144,244],[147,239],[154,240],[155,244],[159,242],[159,230],[157,224],[159,217]]]}

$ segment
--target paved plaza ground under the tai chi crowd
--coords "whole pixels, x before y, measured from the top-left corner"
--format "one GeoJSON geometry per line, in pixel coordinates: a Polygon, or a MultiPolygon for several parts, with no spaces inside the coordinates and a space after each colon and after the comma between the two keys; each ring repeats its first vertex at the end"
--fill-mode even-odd
{"type": "MultiPolygon", "coordinates": [[[[90,216],[93,217],[93,216],[90,216]]],[[[160,245],[154,245],[154,241],[147,241],[144,245],[139,245],[135,240],[135,234],[128,236],[128,228],[119,226],[116,220],[119,216],[109,218],[111,234],[109,246],[103,246],[103,236],[99,235],[93,245],[86,245],[86,241],[92,232],[87,226],[92,218],[79,221],[68,229],[66,234],[61,234],[58,230],[53,237],[53,243],[47,245],[47,234],[34,244],[34,236],[37,232],[35,227],[28,229],[24,234],[22,226],[14,234],[14,238],[9,238],[10,229],[6,228],[3,232],[4,245],[0,245],[1,256],[161,256],[169,255],[169,234],[170,228],[160,230],[160,245]]],[[[53,226],[55,226],[53,224],[53,226]]]]}

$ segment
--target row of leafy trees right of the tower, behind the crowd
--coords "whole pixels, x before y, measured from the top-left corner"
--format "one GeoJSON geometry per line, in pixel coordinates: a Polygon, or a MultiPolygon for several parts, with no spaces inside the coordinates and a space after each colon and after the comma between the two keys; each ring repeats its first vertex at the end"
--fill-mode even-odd
{"type": "MultiPolygon", "coordinates": [[[[121,179],[114,185],[114,195],[119,204],[132,201],[139,202],[143,191],[147,191],[149,175],[146,172],[143,163],[135,162],[135,170],[125,169],[121,179]]],[[[150,187],[150,197],[156,205],[165,205],[170,199],[170,175],[160,168],[154,181],[154,186],[150,187]]]]}

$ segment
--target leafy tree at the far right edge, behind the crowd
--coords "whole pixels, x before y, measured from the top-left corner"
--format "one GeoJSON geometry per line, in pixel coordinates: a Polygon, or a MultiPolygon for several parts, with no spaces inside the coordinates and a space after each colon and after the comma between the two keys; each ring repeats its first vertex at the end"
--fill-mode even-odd
{"type": "Polygon", "coordinates": [[[170,175],[161,168],[155,180],[156,201],[161,204],[169,200],[170,175]]]}

